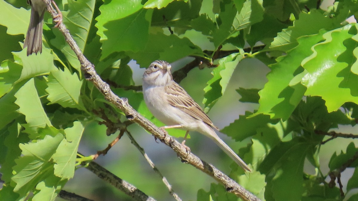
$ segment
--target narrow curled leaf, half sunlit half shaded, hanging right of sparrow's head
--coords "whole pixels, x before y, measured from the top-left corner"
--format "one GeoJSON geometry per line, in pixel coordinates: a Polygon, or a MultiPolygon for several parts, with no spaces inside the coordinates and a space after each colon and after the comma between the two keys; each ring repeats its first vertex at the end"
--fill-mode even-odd
{"type": "Polygon", "coordinates": [[[207,82],[208,85],[204,88],[205,112],[208,112],[224,94],[232,73],[242,59],[242,54],[233,53],[219,60],[218,67],[214,68],[211,73],[213,78],[207,82]]]}

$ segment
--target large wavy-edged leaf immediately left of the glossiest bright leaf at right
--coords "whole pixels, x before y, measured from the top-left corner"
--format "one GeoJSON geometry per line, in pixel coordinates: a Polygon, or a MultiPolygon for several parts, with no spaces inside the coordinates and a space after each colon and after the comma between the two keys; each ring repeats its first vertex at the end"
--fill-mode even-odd
{"type": "Polygon", "coordinates": [[[322,30],[317,35],[299,38],[296,48],[277,58],[277,63],[270,66],[268,82],[258,92],[260,106],[256,114],[269,114],[271,118],[284,120],[289,118],[305,92],[301,84],[291,85],[290,82],[300,72],[302,60],[312,54],[311,46],[322,39],[323,33],[322,30]]]}

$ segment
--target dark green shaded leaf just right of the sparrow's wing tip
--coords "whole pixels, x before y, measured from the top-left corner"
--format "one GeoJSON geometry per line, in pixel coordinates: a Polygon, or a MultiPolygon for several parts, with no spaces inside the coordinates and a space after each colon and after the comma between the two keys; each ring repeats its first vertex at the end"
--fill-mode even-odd
{"type": "Polygon", "coordinates": [[[248,118],[251,114],[251,112],[246,111],[245,115],[240,115],[239,119],[236,119],[220,132],[227,134],[236,141],[242,141],[247,137],[255,135],[258,128],[266,127],[266,124],[270,122],[270,117],[267,115],[260,114],[248,118]]]}

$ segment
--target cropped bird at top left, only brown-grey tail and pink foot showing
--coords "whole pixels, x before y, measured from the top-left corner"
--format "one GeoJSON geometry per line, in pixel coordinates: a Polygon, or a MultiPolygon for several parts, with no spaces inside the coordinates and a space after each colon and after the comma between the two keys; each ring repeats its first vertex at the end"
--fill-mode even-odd
{"type": "MultiPolygon", "coordinates": [[[[55,16],[55,18],[59,17],[55,25],[55,27],[58,27],[62,22],[62,14],[56,3],[53,0],[51,0],[51,2],[58,12],[58,15],[55,16]]],[[[26,54],[29,56],[32,53],[42,53],[42,27],[47,6],[43,0],[28,0],[28,3],[31,5],[31,15],[29,28],[25,36],[24,48],[27,47],[26,54]]]]}

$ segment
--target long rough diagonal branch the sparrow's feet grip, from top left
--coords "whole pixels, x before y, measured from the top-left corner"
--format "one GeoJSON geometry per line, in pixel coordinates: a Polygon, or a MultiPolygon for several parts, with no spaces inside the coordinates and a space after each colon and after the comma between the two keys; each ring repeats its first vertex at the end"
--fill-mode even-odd
{"type": "MultiPolygon", "coordinates": [[[[53,9],[50,4],[50,0],[44,0],[47,4],[47,10],[53,16],[57,16],[57,12],[53,9]]],[[[154,137],[160,139],[161,142],[165,143],[171,147],[180,157],[185,158],[185,160],[192,166],[196,167],[200,171],[206,173],[207,175],[213,177],[218,182],[222,183],[228,192],[232,192],[237,196],[240,196],[243,200],[247,201],[258,201],[255,195],[247,191],[245,188],[240,186],[230,177],[225,175],[223,172],[219,171],[216,167],[211,164],[206,163],[201,160],[199,157],[195,156],[193,153],[188,155],[187,149],[173,137],[165,134],[161,129],[156,127],[148,119],[144,118],[141,114],[135,111],[128,103],[127,98],[119,98],[116,94],[112,92],[110,86],[105,83],[101,77],[96,73],[95,66],[90,63],[83,55],[79,49],[76,42],[73,40],[72,36],[69,34],[66,26],[60,22],[58,26],[61,33],[64,35],[67,43],[71,46],[72,50],[78,57],[79,62],[81,63],[81,70],[83,72],[84,78],[87,81],[92,82],[95,87],[103,94],[105,99],[123,111],[130,121],[134,121],[139,124],[141,127],[153,134],[154,137]]]]}

